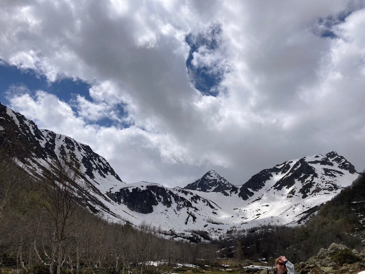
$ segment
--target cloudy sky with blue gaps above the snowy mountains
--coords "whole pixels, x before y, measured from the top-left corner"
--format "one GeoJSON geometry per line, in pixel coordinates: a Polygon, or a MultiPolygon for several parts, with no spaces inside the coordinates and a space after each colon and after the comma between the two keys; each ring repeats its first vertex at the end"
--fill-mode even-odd
{"type": "Polygon", "coordinates": [[[0,102],[126,183],[363,171],[364,29],[364,0],[0,0],[0,102]]]}

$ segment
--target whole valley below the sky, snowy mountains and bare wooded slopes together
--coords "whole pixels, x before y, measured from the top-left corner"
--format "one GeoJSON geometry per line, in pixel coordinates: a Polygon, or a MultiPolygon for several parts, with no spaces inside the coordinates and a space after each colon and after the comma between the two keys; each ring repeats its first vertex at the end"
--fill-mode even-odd
{"type": "MultiPolygon", "coordinates": [[[[247,260],[265,266],[258,259],[270,265],[276,254],[290,254],[299,263],[331,243],[365,248],[364,176],[334,151],[285,161],[239,186],[214,170],[184,188],[126,184],[89,146],[5,106],[0,112],[5,268],[257,273],[263,270],[247,260]]],[[[309,273],[306,264],[297,267],[309,273]]]]}

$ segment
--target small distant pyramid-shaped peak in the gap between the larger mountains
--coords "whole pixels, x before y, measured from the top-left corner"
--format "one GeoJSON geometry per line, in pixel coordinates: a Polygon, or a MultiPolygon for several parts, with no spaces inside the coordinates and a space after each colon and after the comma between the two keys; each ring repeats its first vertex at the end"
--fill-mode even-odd
{"type": "Polygon", "coordinates": [[[200,190],[204,192],[220,192],[230,189],[234,185],[220,176],[215,170],[210,170],[200,179],[188,184],[184,189],[200,190]]]}

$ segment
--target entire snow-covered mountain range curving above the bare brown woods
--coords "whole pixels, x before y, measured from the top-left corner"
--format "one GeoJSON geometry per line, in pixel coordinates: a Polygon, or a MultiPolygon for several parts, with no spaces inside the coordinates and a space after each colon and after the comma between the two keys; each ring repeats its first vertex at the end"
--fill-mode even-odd
{"type": "Polygon", "coordinates": [[[40,130],[0,104],[0,143],[6,138],[16,139],[19,164],[37,180],[62,157],[76,159],[85,205],[94,213],[133,225],[146,221],[169,237],[193,241],[264,224],[303,224],[358,176],[344,157],[330,152],[262,170],[241,186],[228,183],[213,170],[184,189],[126,184],[89,146],[40,130]]]}

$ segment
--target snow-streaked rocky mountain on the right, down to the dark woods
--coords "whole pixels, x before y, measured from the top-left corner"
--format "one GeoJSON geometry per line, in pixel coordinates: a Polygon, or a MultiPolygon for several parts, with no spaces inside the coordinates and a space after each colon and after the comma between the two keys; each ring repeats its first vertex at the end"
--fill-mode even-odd
{"type": "Polygon", "coordinates": [[[353,165],[332,151],[262,170],[242,185],[238,195],[254,208],[275,202],[278,217],[286,215],[287,224],[303,224],[357,176],[353,165]]]}

